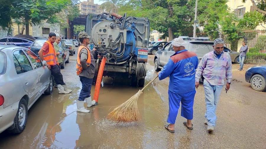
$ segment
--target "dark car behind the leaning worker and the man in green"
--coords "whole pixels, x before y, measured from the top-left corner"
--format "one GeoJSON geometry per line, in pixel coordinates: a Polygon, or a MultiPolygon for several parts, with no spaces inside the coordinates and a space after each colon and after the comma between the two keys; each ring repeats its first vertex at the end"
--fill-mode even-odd
{"type": "MultiPolygon", "coordinates": [[[[40,51],[41,47],[43,47],[43,44],[46,41],[47,39],[38,38],[33,42],[33,44],[29,47],[29,49],[32,50],[37,56],[39,56],[38,52],[40,51]]],[[[67,55],[63,63],[61,64],[61,69],[64,69],[65,63],[69,63],[69,49],[67,48],[64,42],[61,42],[61,48],[62,48],[62,51],[64,51],[64,54],[67,55]]]]}

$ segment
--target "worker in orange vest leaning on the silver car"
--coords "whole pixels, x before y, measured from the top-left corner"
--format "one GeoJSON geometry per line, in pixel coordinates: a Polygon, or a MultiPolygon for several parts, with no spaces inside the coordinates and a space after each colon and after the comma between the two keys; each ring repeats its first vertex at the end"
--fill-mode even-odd
{"type": "Polygon", "coordinates": [[[53,48],[53,43],[56,40],[56,34],[50,33],[48,40],[43,44],[43,47],[38,52],[40,59],[47,62],[48,69],[51,70],[54,80],[57,84],[59,94],[69,94],[72,90],[66,88],[66,84],[63,81],[63,75],[60,72],[59,63],[57,61],[56,53],[53,48]]]}

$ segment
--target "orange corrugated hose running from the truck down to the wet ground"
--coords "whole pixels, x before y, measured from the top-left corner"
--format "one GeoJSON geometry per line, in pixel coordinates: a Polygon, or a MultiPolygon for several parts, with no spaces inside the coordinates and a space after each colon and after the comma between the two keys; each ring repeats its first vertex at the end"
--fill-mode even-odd
{"type": "Polygon", "coordinates": [[[98,105],[98,99],[99,99],[99,93],[100,93],[100,87],[101,87],[101,82],[102,82],[102,77],[103,77],[103,69],[106,63],[106,57],[103,57],[102,62],[100,64],[97,80],[96,80],[96,85],[95,85],[95,90],[94,90],[94,96],[93,99],[96,101],[95,105],[98,105]]]}

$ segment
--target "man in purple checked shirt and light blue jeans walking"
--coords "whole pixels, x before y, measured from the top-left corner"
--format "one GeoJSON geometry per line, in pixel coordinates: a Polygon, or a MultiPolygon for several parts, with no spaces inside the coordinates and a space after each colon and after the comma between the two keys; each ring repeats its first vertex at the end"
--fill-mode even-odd
{"type": "Polygon", "coordinates": [[[214,51],[205,54],[198,66],[195,87],[198,88],[201,76],[204,77],[203,87],[205,92],[206,113],[204,124],[208,125],[207,131],[213,132],[216,122],[216,108],[220,93],[226,79],[226,91],[229,90],[232,80],[232,62],[227,52],[223,52],[224,41],[217,38],[214,40],[214,51]]]}

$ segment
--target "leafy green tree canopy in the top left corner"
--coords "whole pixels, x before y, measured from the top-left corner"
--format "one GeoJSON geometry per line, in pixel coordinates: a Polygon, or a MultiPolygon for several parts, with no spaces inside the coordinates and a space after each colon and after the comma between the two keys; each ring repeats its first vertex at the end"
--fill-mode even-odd
{"type": "Polygon", "coordinates": [[[26,26],[28,35],[29,25],[38,25],[43,21],[61,23],[59,18],[74,18],[79,13],[76,4],[77,0],[4,0],[4,5],[0,6],[0,25],[11,27],[12,19],[15,19],[16,22],[26,26]],[[65,15],[60,16],[60,12],[65,15]]]}

